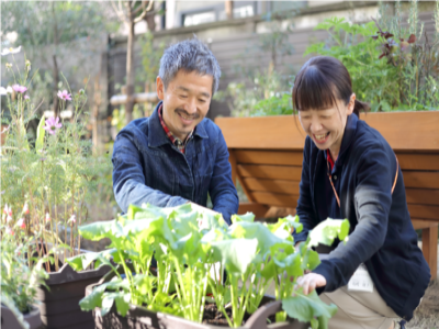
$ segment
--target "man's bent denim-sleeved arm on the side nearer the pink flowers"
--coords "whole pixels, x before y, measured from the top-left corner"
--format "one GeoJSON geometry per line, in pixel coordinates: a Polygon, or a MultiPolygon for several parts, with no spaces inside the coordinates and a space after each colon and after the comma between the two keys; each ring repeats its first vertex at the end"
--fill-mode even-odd
{"type": "Polygon", "coordinates": [[[119,206],[126,213],[130,204],[149,203],[173,207],[188,202],[145,185],[140,154],[127,134],[119,134],[113,149],[113,191],[119,206]]]}

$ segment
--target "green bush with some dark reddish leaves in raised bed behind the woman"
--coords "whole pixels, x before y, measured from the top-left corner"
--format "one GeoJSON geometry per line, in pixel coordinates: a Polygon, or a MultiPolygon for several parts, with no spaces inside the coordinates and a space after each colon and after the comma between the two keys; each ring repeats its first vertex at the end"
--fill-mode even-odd
{"type": "Polygon", "coordinates": [[[328,41],[311,45],[305,55],[338,58],[348,69],[357,99],[372,111],[434,110],[439,106],[438,43],[423,38],[417,1],[412,2],[408,29],[402,27],[401,7],[367,24],[351,24],[333,18],[315,30],[329,34],[328,41]],[[423,39],[421,39],[423,38],[423,39]]]}

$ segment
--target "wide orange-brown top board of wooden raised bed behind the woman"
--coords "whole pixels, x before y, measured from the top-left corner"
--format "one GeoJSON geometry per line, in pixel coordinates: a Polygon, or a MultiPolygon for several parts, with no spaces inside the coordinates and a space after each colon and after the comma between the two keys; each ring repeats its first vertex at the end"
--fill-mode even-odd
{"type": "MultiPolygon", "coordinates": [[[[368,113],[361,118],[378,129],[395,151],[439,149],[439,111],[368,113]]],[[[215,122],[229,148],[303,149],[306,137],[293,115],[217,117],[215,122]]]]}

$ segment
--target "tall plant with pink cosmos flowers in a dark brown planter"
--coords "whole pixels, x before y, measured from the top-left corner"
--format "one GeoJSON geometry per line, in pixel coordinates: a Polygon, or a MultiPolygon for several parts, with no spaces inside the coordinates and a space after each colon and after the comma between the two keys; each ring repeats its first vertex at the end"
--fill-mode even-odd
{"type": "MultiPolygon", "coordinates": [[[[20,50],[5,49],[1,55],[13,59],[20,50]]],[[[44,325],[74,328],[77,324],[85,328],[87,322],[92,324],[92,316],[82,313],[78,302],[85,287],[99,281],[109,268],[77,273],[65,259],[82,252],[78,226],[88,219],[87,202],[98,184],[98,173],[110,163],[106,158],[94,156],[91,143],[85,138],[85,90],[72,93],[67,87],[69,91],[58,92],[59,113],[70,111],[70,120],[43,116],[36,131],[31,129],[30,123],[37,113],[30,94],[31,63],[26,60],[21,70],[12,61],[15,68],[12,64],[7,68],[14,81],[0,88],[9,110],[1,114],[1,122],[7,125],[1,132],[4,144],[0,158],[0,203],[4,204],[5,225],[2,236],[20,230],[22,235],[10,236],[15,246],[24,236],[32,241],[27,254],[38,259],[50,256],[43,263],[48,277],[37,292],[44,325]]],[[[31,258],[29,265],[32,266],[31,258]]]]}

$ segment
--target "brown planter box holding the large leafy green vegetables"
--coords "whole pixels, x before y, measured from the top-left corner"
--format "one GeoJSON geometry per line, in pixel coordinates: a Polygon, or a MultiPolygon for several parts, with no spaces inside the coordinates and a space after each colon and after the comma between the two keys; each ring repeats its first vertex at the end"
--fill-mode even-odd
{"type": "MultiPolygon", "coordinates": [[[[91,284],[86,288],[86,295],[89,295],[94,286],[99,284],[91,284]]],[[[269,300],[273,300],[267,297],[269,300]]],[[[266,299],[266,302],[268,302],[266,299]]],[[[305,329],[309,324],[293,320],[292,322],[278,322],[267,325],[267,318],[275,313],[282,310],[280,300],[273,300],[269,304],[261,306],[245,324],[241,329],[305,329]]],[[[93,310],[94,324],[97,329],[219,329],[228,328],[213,325],[203,325],[193,322],[177,316],[167,315],[164,313],[156,313],[149,309],[132,305],[126,317],[117,314],[115,306],[104,317],[101,316],[101,309],[93,310]]]]}

